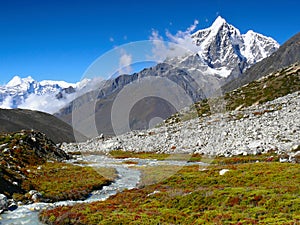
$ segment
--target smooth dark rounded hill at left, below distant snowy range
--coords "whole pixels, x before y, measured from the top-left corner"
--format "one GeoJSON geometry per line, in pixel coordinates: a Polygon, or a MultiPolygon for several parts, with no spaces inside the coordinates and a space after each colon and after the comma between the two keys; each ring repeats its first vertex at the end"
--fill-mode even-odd
{"type": "MultiPolygon", "coordinates": [[[[26,109],[0,109],[0,133],[20,130],[37,130],[55,143],[75,142],[73,128],[47,113],[26,109]]],[[[86,138],[75,132],[77,140],[86,138]]]]}

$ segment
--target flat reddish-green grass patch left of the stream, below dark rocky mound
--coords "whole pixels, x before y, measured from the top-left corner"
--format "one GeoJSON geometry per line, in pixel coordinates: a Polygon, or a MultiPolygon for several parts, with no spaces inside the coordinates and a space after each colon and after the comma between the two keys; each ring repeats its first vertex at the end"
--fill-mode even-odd
{"type": "MultiPolygon", "coordinates": [[[[96,171],[92,167],[68,163],[47,162],[41,166],[27,167],[30,170],[22,187],[38,190],[51,202],[86,198],[93,190],[111,183],[116,173],[112,168],[96,171]],[[102,176],[106,174],[106,177],[102,176]],[[107,178],[107,177],[111,178],[107,178]]],[[[100,170],[100,169],[99,169],[100,170]]]]}

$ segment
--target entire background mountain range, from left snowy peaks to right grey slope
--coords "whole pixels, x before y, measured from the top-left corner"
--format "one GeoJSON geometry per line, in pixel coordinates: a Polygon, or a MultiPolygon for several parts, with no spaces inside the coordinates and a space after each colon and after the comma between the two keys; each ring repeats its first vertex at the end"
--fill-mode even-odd
{"type": "MultiPolygon", "coordinates": [[[[130,129],[147,129],[170,117],[178,111],[178,107],[187,107],[199,100],[220,95],[222,91],[233,90],[275,71],[278,69],[276,64],[283,67],[299,61],[297,35],[279,48],[275,40],[252,30],[241,34],[221,17],[211,27],[193,33],[191,38],[196,52],[167,59],[131,75],[123,74],[106,80],[101,83],[101,87],[92,90],[89,87],[93,82],[89,80],[69,84],[55,81],[36,82],[30,77],[15,77],[7,85],[0,87],[0,104],[3,107],[7,103],[13,103],[10,108],[24,105],[30,108],[31,101],[36,102],[37,98],[46,99],[46,106],[51,105],[54,108],[49,110],[44,107],[43,111],[56,112],[56,117],[70,125],[75,124],[75,129],[79,128],[79,132],[85,136],[92,138],[99,133],[115,135],[112,114],[116,111],[125,112],[124,115],[118,115],[125,118],[124,120],[128,119],[130,129]],[[170,82],[162,84],[161,78],[170,82]],[[178,98],[176,90],[179,89],[183,90],[184,98],[178,98]],[[119,109],[113,110],[126,90],[125,102],[119,109]],[[150,93],[147,90],[152,92],[143,99],[135,99],[136,96],[132,94],[138,91],[150,93]],[[167,98],[164,99],[163,95],[167,95],[167,98]],[[172,96],[178,98],[178,105],[173,104],[172,101],[175,100],[172,96]],[[131,108],[126,106],[129,99],[137,100],[131,108]],[[126,112],[126,109],[130,112],[126,112]]],[[[32,109],[41,110],[38,107],[32,109]]],[[[121,125],[125,126],[122,122],[121,125]]],[[[118,129],[118,134],[127,131],[126,127],[118,129]]]]}

